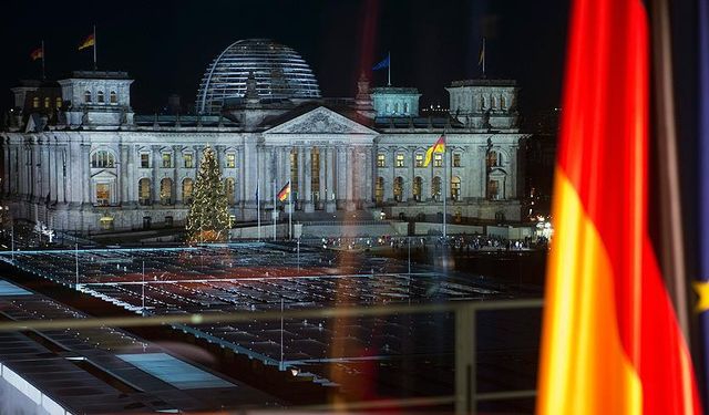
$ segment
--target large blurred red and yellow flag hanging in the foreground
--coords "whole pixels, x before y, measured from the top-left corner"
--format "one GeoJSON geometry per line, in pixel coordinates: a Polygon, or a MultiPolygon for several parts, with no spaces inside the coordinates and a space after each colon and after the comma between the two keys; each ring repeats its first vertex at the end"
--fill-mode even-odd
{"type": "Polygon", "coordinates": [[[573,4],[537,414],[700,414],[648,225],[648,14],[573,4]]]}

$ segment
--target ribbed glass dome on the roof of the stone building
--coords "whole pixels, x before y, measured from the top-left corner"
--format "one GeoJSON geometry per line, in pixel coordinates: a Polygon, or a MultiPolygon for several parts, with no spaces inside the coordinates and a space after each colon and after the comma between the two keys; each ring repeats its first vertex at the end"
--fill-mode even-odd
{"type": "Polygon", "coordinates": [[[291,48],[268,39],[232,43],[207,66],[197,93],[197,112],[218,114],[224,102],[246,94],[249,73],[264,98],[319,98],[310,66],[291,48]]]}

